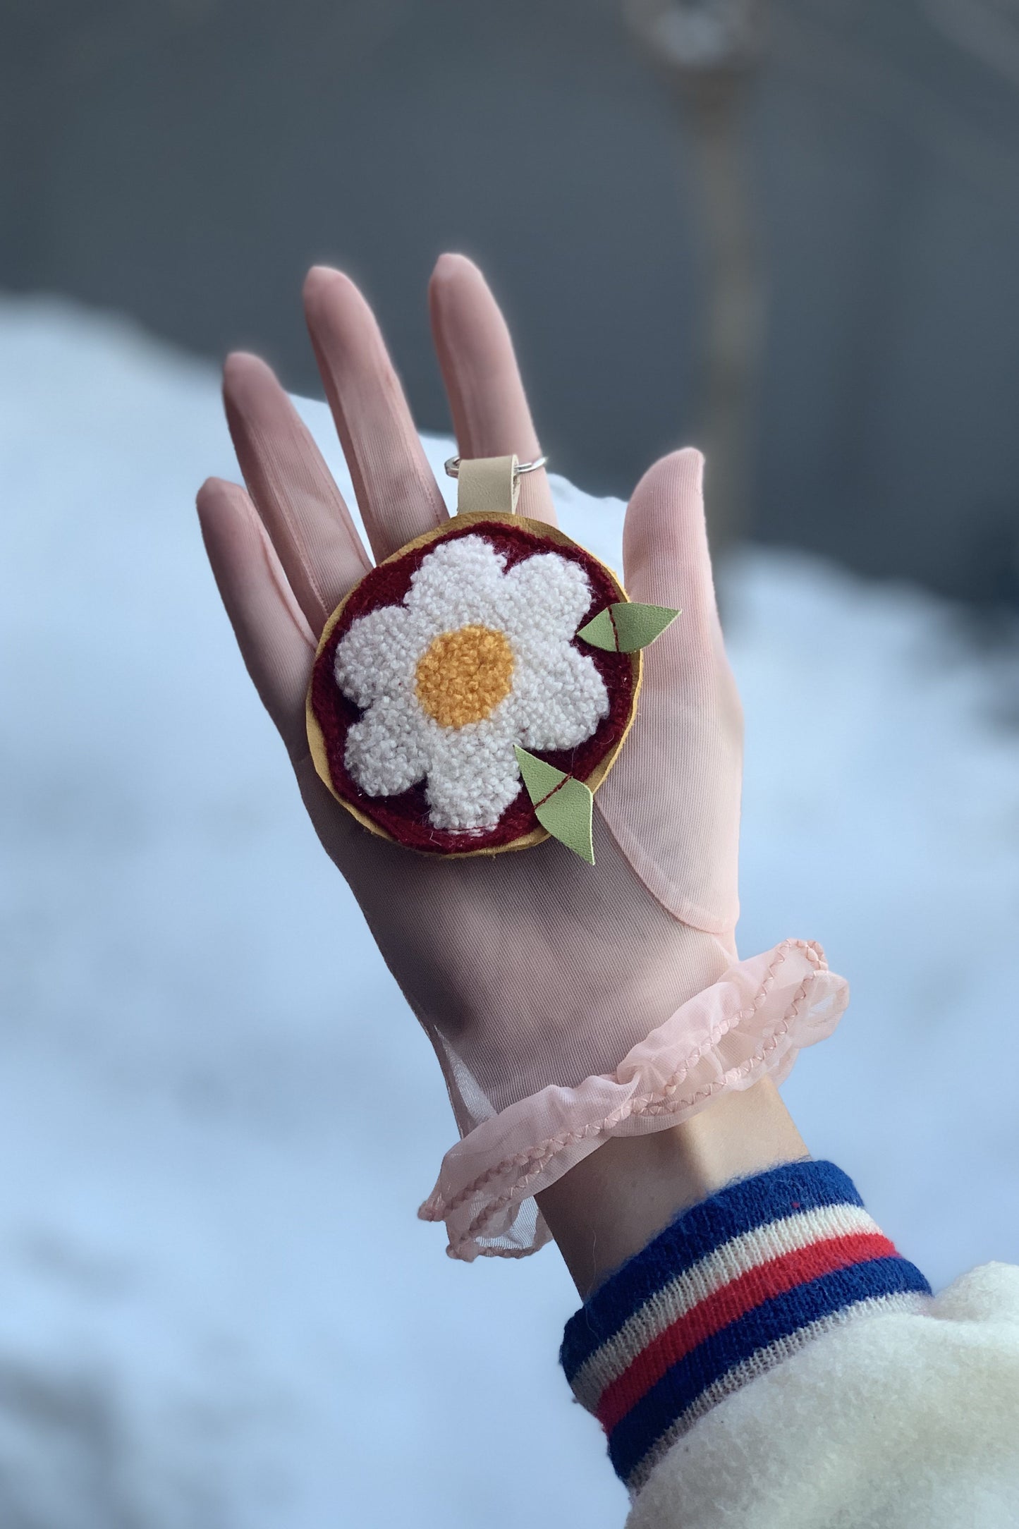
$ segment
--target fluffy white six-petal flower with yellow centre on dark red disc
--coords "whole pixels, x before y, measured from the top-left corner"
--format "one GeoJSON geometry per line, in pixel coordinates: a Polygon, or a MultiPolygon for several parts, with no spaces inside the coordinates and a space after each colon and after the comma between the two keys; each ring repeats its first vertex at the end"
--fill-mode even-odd
{"type": "Polygon", "coordinates": [[[571,647],[591,602],[584,569],[536,552],[509,573],[478,535],[440,541],[399,605],[359,616],[335,676],[364,717],[345,764],[368,797],[425,780],[437,829],[493,829],[519,790],[513,745],[568,749],[608,714],[597,668],[571,647]]]}

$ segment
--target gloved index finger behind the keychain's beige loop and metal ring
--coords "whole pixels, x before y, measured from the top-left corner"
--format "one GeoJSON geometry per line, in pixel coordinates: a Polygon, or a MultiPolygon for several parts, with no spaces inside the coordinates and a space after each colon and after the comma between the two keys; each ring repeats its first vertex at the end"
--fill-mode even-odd
{"type": "MultiPolygon", "coordinates": [[[[513,341],[474,261],[440,255],[428,289],[432,335],[460,454],[521,462],[541,456],[513,341]]],[[[544,469],[519,480],[519,514],[556,521],[544,469]]]]}

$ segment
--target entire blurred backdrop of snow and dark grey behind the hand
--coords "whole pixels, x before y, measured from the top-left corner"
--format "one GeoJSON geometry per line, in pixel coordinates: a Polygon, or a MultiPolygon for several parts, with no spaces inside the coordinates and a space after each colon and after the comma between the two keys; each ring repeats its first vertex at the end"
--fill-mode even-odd
{"type": "Polygon", "coordinates": [[[414,1222],[437,1070],[202,561],[225,350],[348,485],[315,261],[435,463],[425,286],[481,263],[611,561],[706,448],[741,950],[817,937],[854,988],[784,1092],[935,1286],[1019,1260],[1017,193],[1019,0],[8,0],[3,1529],[625,1517],[555,1251],[414,1222]]]}

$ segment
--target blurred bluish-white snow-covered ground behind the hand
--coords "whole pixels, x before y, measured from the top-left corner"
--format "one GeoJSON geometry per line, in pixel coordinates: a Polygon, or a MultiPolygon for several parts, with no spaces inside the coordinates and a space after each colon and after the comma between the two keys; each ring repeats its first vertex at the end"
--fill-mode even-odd
{"type": "MultiPolygon", "coordinates": [[[[237,657],[209,472],[209,367],[0,303],[0,1523],[620,1524],[555,1249],[467,1268],[414,1219],[438,1073],[237,657]]],[[[619,561],[622,506],[561,508],[619,561]]],[[[787,1099],[935,1284],[1019,1261],[1016,650],[796,555],[726,593],[741,950],[854,988],[787,1099]]]]}

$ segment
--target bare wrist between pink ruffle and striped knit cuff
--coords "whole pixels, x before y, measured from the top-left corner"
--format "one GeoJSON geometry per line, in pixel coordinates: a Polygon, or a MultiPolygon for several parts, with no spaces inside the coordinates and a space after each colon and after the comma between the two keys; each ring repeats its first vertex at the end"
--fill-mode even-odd
{"type": "Polygon", "coordinates": [[[582,1298],[683,1209],[723,1185],[808,1156],[770,1078],[681,1125],[614,1136],[538,1196],[582,1298]]]}

